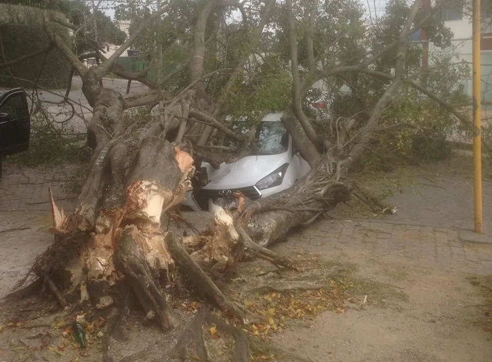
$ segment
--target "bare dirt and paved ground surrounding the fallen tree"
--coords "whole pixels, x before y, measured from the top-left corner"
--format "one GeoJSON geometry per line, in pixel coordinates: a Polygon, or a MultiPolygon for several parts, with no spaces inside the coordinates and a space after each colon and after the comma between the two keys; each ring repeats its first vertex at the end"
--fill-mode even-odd
{"type": "MultiPolygon", "coordinates": [[[[357,204],[351,209],[341,206],[332,214],[334,219],[317,221],[275,245],[275,251],[309,265],[311,269],[303,273],[317,271],[327,285],[323,290],[329,295],[329,303],[320,305],[320,310],[327,310],[316,313],[312,320],[304,312],[286,314],[283,327],[283,319],[277,320],[281,318],[279,307],[275,312],[277,331],[268,334],[272,344],[316,362],[491,361],[492,244],[471,244],[459,236],[461,229],[473,226],[469,219],[469,161],[466,157],[455,158],[390,175],[366,175],[366,183],[380,191],[398,184],[397,193],[389,198],[398,208],[395,216],[373,215],[357,204]],[[412,181],[396,181],[402,179],[412,181]],[[337,276],[332,275],[334,269],[337,276]]],[[[492,214],[487,213],[492,206],[488,184],[484,182],[485,221],[492,223],[492,214]]],[[[0,200],[0,204],[5,201],[0,200]]],[[[205,223],[203,215],[190,213],[187,217],[205,223]]],[[[0,297],[49,245],[49,223],[48,210],[0,211],[0,297]]],[[[263,262],[245,263],[238,279],[241,288],[258,286],[255,275],[267,268],[263,262]]],[[[272,284],[280,282],[276,276],[270,278],[272,284]]],[[[267,308],[264,303],[272,298],[272,294],[238,294],[235,285],[223,288],[248,306],[267,308]]],[[[312,293],[295,296],[307,298],[298,303],[302,311],[321,298],[316,294],[319,291],[312,293]]],[[[49,296],[43,298],[48,313],[53,303],[49,296]]],[[[183,315],[187,315],[192,299],[185,297],[180,303],[183,315]]],[[[0,362],[101,360],[101,337],[95,332],[88,353],[70,346],[60,348],[65,326],[60,321],[68,322],[62,320],[63,314],[35,315],[39,317],[35,320],[19,319],[19,315],[33,317],[29,305],[19,304],[16,309],[11,304],[0,305],[0,362]],[[26,328],[38,322],[41,327],[26,328]]],[[[181,329],[187,322],[183,320],[181,329]]],[[[247,330],[253,332],[251,326],[247,330]]],[[[142,325],[138,313],[127,322],[126,331],[134,338],[126,344],[113,341],[118,357],[136,352],[149,342],[173,340],[177,333],[161,336],[156,328],[142,325]]],[[[160,353],[165,351],[161,349],[160,353]]],[[[271,351],[255,354],[254,360],[287,360],[271,351]]]]}

